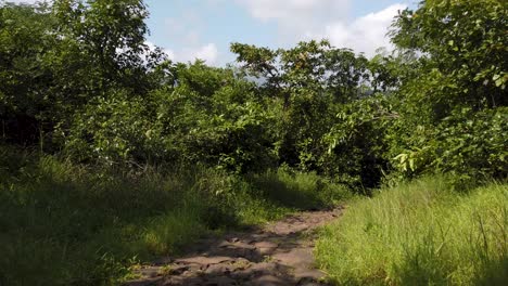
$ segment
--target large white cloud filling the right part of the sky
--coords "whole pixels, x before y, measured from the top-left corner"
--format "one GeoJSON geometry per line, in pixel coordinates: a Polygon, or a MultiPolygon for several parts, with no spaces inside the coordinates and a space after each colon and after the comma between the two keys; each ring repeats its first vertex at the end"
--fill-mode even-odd
{"type": "Polygon", "coordinates": [[[327,38],[338,48],[351,48],[373,55],[378,48],[393,49],[386,37],[398,10],[406,4],[393,4],[379,12],[348,21],[351,0],[236,0],[253,18],[275,22],[279,28],[278,46],[301,40],[327,38]]]}

